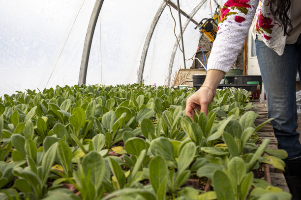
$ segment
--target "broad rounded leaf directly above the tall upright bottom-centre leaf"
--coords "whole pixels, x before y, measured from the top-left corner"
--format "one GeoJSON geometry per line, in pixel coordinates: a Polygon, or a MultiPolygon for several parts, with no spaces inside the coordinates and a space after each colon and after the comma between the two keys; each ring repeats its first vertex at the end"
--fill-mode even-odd
{"type": "Polygon", "coordinates": [[[151,141],[151,153],[161,155],[165,160],[175,161],[171,142],[167,138],[156,138],[151,141]]]}

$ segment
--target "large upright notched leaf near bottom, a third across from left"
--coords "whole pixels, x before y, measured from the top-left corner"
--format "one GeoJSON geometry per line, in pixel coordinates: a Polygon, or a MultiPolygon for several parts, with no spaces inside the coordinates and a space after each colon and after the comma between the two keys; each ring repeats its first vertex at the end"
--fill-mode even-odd
{"type": "Polygon", "coordinates": [[[103,180],[105,172],[105,162],[103,157],[98,152],[91,151],[84,157],[82,166],[86,176],[91,170],[91,182],[95,187],[95,191],[98,191],[101,186],[101,182],[103,180]]]}

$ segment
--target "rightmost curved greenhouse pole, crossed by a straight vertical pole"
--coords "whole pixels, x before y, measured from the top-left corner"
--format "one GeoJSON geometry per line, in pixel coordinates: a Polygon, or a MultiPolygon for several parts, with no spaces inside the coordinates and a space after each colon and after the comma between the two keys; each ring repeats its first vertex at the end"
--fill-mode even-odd
{"type": "MultiPolygon", "coordinates": [[[[204,5],[204,3],[207,0],[202,0],[190,13],[190,18],[193,18],[194,15],[199,11],[199,9],[204,5]]],[[[185,31],[187,25],[189,24],[190,20],[188,19],[185,24],[182,27],[182,31],[185,31]]],[[[178,35],[178,38],[181,39],[181,34],[178,35]]],[[[172,75],[172,71],[173,71],[173,65],[174,65],[174,60],[175,60],[175,56],[176,56],[176,51],[178,49],[178,41],[175,42],[174,45],[174,49],[173,52],[171,54],[171,58],[170,58],[170,62],[169,62],[169,66],[168,66],[168,82],[167,84],[170,85],[170,81],[171,81],[171,75],[172,75]]]]}

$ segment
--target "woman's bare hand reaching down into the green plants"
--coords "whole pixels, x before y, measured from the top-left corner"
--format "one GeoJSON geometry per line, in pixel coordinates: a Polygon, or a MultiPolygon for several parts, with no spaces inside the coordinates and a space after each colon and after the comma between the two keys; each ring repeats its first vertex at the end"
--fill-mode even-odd
{"type": "Polygon", "coordinates": [[[208,114],[208,106],[212,102],[215,93],[208,87],[200,87],[191,97],[186,100],[185,114],[192,119],[195,109],[208,114]]]}

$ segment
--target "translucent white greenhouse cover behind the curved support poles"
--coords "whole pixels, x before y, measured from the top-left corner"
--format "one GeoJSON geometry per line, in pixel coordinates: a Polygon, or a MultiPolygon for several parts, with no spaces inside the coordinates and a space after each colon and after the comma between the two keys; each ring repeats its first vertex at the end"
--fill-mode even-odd
{"type": "MultiPolygon", "coordinates": [[[[209,0],[208,0],[209,1],[209,0]]],[[[142,51],[162,0],[104,0],[93,36],[86,84],[137,82],[142,51]]],[[[172,0],[177,4],[177,0],[172,0]]],[[[187,14],[200,0],[180,0],[187,14]]],[[[212,12],[216,5],[212,1],[212,12]]],[[[87,28],[95,0],[0,0],[0,96],[15,91],[78,84],[87,28]]],[[[178,11],[172,8],[179,35],[178,11]]],[[[211,17],[207,2],[193,19],[211,17]]],[[[187,18],[181,15],[182,25],[187,18]]],[[[165,7],[151,38],[143,80],[164,85],[176,42],[174,20],[165,7]]],[[[200,33],[189,23],[183,33],[186,59],[200,33]]],[[[180,41],[181,44],[181,41],[180,41]]],[[[190,68],[192,60],[186,61],[190,68]]],[[[184,68],[177,50],[173,74],[184,68]]]]}

